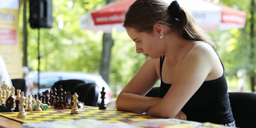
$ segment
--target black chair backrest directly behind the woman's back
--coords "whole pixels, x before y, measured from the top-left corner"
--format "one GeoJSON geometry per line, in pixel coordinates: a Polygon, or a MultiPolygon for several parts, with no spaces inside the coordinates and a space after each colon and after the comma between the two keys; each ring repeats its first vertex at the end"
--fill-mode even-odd
{"type": "Polygon", "coordinates": [[[236,126],[256,128],[256,94],[243,92],[229,92],[228,94],[236,126]]]}

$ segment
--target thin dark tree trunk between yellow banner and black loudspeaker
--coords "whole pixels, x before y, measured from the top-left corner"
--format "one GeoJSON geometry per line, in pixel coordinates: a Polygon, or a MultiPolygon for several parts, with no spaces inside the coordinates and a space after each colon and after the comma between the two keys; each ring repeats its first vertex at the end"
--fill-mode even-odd
{"type": "Polygon", "coordinates": [[[27,60],[27,44],[28,44],[28,31],[27,31],[27,0],[23,0],[23,66],[28,66],[27,60]]]}

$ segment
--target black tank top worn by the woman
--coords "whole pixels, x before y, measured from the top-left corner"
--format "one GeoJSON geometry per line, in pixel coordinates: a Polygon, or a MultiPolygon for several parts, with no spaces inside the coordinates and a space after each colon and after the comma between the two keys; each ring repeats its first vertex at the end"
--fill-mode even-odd
{"type": "MultiPolygon", "coordinates": [[[[165,55],[160,57],[161,78],[164,59],[165,55]]],[[[171,84],[163,83],[161,79],[159,97],[163,98],[170,87],[171,84]]],[[[187,120],[211,122],[215,124],[228,124],[233,122],[234,118],[230,107],[227,89],[228,87],[224,71],[223,75],[218,79],[204,81],[196,93],[182,108],[182,111],[187,116],[187,120]]]]}

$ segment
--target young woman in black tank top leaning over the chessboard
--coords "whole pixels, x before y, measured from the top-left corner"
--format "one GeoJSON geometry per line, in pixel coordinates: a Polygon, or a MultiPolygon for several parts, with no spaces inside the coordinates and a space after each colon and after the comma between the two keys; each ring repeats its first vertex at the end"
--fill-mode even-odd
{"type": "Polygon", "coordinates": [[[123,26],[149,58],[119,94],[118,110],[235,127],[222,62],[188,11],[176,1],[137,0],[123,26]],[[145,97],[159,79],[159,97],[145,97]]]}

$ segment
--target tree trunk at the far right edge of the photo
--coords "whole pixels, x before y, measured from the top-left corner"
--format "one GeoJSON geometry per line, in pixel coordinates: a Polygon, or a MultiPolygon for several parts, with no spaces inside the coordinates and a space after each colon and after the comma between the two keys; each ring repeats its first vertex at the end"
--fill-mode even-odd
{"type": "MultiPolygon", "coordinates": [[[[251,55],[250,55],[250,60],[251,60],[251,65],[255,65],[255,55],[254,55],[254,9],[255,8],[255,2],[254,0],[251,0],[251,32],[250,32],[250,37],[251,37],[251,55]]],[[[255,89],[255,72],[252,70],[250,71],[250,80],[251,80],[251,89],[252,92],[254,93],[255,89]]]]}

